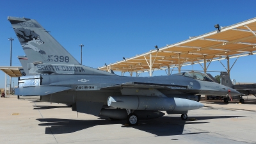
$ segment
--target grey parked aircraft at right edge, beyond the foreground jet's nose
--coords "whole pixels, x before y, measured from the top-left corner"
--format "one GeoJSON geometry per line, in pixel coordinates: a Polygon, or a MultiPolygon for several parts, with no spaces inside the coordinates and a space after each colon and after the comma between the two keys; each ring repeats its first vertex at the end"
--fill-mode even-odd
{"type": "MultiPolygon", "coordinates": [[[[256,84],[233,84],[228,72],[220,72],[221,77],[221,84],[228,86],[230,88],[234,88],[238,92],[242,93],[243,95],[254,95],[256,97],[256,84]]],[[[239,102],[244,104],[243,95],[240,96],[239,102]]],[[[224,99],[224,102],[227,102],[227,98],[224,99]]]]}

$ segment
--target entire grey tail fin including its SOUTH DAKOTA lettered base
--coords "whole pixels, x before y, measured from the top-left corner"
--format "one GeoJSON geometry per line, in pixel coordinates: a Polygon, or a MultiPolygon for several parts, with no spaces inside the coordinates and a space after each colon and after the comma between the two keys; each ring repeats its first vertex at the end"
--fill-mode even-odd
{"type": "Polygon", "coordinates": [[[28,74],[114,75],[80,65],[36,20],[8,17],[28,56],[28,74]]]}

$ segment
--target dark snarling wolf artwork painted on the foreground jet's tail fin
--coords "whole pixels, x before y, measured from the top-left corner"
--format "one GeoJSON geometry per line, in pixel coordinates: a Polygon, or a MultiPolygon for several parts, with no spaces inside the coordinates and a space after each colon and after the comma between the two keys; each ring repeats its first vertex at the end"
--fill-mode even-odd
{"type": "Polygon", "coordinates": [[[45,51],[38,49],[37,47],[37,45],[44,44],[44,42],[40,39],[40,36],[35,33],[35,31],[24,28],[17,28],[14,29],[14,31],[19,38],[20,44],[23,49],[33,49],[40,54],[45,54],[45,51]]]}

